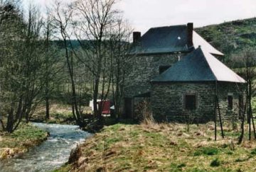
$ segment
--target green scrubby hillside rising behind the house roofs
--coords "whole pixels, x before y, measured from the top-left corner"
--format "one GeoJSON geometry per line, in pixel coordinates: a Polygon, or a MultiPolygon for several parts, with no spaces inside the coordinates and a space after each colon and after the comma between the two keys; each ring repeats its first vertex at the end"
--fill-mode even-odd
{"type": "Polygon", "coordinates": [[[228,58],[247,47],[256,47],[256,18],[230,21],[195,29],[228,58]]]}

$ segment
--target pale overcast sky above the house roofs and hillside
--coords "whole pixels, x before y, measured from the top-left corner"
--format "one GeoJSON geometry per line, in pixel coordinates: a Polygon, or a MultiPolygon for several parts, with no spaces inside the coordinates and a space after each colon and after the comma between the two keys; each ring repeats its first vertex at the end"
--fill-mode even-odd
{"type": "MultiPolygon", "coordinates": [[[[23,0],[24,6],[28,1],[23,0]]],[[[43,9],[52,0],[33,0],[43,9]]],[[[68,1],[68,0],[65,0],[68,1]]],[[[256,0],[121,0],[124,12],[136,31],[193,22],[195,27],[256,17],[256,0]]]]}

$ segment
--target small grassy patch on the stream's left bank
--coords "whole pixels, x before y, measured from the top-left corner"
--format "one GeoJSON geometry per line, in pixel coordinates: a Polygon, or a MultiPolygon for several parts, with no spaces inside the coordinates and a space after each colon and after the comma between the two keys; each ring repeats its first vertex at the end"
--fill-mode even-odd
{"type": "Polygon", "coordinates": [[[31,124],[21,124],[14,133],[0,131],[0,159],[18,156],[29,147],[36,146],[47,139],[47,132],[31,124]]]}

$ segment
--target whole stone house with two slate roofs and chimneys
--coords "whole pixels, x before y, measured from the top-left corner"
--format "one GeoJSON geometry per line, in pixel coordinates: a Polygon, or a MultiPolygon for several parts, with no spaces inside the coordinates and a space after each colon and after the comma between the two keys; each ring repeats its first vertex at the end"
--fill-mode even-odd
{"type": "Polygon", "coordinates": [[[198,35],[193,23],[133,36],[124,88],[126,117],[133,117],[146,99],[159,121],[208,122],[216,114],[238,120],[245,80],[220,62],[223,53],[198,35]]]}

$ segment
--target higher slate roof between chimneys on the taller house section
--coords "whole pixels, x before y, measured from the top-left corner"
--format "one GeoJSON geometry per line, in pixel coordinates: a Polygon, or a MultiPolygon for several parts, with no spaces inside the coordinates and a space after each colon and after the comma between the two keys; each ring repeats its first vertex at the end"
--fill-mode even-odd
{"type": "MultiPolygon", "coordinates": [[[[171,25],[159,28],[150,28],[144,35],[139,45],[135,45],[131,54],[152,54],[152,53],[170,53],[170,52],[190,52],[193,47],[187,45],[187,25],[171,25]]],[[[206,40],[201,38],[198,33],[193,31],[193,45],[206,47],[210,53],[223,55],[216,50],[206,40]]]]}

